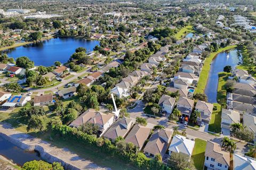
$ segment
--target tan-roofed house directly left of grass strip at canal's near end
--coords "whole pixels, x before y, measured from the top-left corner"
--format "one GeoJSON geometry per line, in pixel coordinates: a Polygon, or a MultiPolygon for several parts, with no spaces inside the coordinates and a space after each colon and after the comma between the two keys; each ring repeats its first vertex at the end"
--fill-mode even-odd
{"type": "Polygon", "coordinates": [[[201,117],[197,117],[198,121],[205,123],[210,122],[213,111],[213,104],[198,100],[195,106],[195,110],[201,113],[201,117]]]}

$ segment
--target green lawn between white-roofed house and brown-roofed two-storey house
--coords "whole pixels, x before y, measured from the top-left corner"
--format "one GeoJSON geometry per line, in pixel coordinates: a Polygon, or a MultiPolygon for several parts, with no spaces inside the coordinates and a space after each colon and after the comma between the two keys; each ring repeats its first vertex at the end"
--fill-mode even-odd
{"type": "Polygon", "coordinates": [[[192,153],[192,159],[194,160],[194,164],[196,169],[202,170],[204,169],[204,152],[206,149],[206,141],[202,139],[195,139],[195,147],[192,153]]]}

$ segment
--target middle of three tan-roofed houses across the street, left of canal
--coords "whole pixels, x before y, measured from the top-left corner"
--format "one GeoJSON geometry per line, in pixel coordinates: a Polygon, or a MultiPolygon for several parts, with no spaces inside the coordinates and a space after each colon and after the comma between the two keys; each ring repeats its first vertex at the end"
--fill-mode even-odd
{"type": "Polygon", "coordinates": [[[194,107],[194,100],[180,97],[177,102],[177,109],[181,112],[182,116],[190,117],[193,107],[194,107]]]}

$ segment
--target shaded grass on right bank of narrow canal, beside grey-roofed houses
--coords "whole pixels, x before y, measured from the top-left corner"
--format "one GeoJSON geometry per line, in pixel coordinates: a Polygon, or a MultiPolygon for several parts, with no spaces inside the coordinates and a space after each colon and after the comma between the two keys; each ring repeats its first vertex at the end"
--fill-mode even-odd
{"type": "Polygon", "coordinates": [[[225,83],[228,80],[228,77],[231,73],[220,72],[219,73],[219,84],[218,84],[218,93],[217,93],[217,101],[219,104],[226,103],[227,98],[227,90],[225,89],[225,83]]]}

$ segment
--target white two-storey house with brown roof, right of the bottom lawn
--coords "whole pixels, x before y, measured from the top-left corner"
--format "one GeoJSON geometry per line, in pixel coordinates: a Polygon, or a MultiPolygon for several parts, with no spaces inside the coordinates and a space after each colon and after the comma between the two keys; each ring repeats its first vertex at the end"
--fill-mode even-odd
{"type": "Polygon", "coordinates": [[[230,163],[230,153],[222,150],[218,143],[207,141],[204,166],[207,169],[227,170],[230,163]]]}

